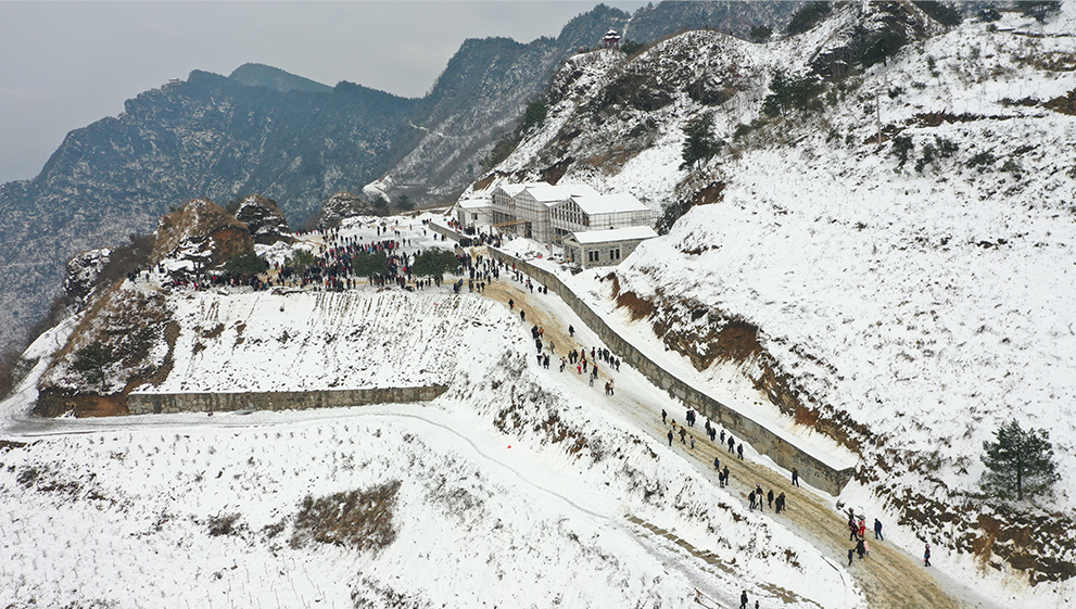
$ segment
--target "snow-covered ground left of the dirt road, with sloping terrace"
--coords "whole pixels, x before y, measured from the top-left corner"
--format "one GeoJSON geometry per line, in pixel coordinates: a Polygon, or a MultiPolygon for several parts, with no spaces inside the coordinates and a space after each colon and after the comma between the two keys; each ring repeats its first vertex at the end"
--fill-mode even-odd
{"type": "MultiPolygon", "coordinates": [[[[722,606],[744,588],[763,604],[862,606],[810,543],[748,513],[598,390],[534,366],[529,327],[478,294],[169,299],[182,333],[161,390],[450,391],[421,405],[26,423],[39,366],[3,404],[7,436],[28,442],[0,453],[3,606],[681,607],[696,588],[722,606]],[[296,534],[304,498],[396,482],[385,547],[296,534]]],[[[38,355],[71,327],[42,335],[38,355]]],[[[622,391],[675,407],[622,375],[622,391]]]]}

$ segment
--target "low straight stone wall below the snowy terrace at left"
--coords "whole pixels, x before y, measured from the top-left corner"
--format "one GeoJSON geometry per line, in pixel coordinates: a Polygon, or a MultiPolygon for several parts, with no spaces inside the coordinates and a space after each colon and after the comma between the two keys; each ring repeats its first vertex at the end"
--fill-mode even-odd
{"type": "Polygon", "coordinates": [[[127,397],[127,409],[131,415],[151,415],[341,408],[365,404],[429,402],[440,397],[447,389],[445,385],[432,385],[322,391],[131,393],[127,397]]]}

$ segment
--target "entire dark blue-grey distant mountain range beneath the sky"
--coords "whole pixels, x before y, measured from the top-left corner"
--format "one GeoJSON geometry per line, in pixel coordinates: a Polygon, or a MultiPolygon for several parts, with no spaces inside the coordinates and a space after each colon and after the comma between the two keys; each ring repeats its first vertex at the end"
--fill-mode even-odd
{"type": "Polygon", "coordinates": [[[777,29],[799,4],[662,2],[634,15],[599,4],[556,39],[465,41],[422,99],[257,64],[145,91],[119,116],[68,134],[36,178],[0,186],[0,347],[45,315],[67,258],[147,232],[169,207],[258,193],[296,226],[375,180],[390,199],[447,202],[554,69],[609,28],[640,41],[704,27],[744,35],[777,29]]]}

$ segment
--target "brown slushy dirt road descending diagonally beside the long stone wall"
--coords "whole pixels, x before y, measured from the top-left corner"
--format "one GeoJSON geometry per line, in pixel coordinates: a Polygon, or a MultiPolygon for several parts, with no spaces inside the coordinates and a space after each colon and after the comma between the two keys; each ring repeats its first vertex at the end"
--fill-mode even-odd
{"type": "MultiPolygon", "coordinates": [[[[505,277],[503,276],[502,279],[505,277]]],[[[515,310],[517,313],[520,309],[526,312],[528,328],[532,323],[537,323],[544,329],[546,342],[552,340],[556,345],[557,356],[553,357],[550,369],[559,366],[559,356],[567,352],[578,347],[590,350],[591,346],[596,346],[584,345],[569,338],[568,325],[573,323],[579,330],[582,321],[574,316],[570,320],[560,319],[553,313],[548,303],[550,300],[557,299],[555,294],[532,294],[522,284],[514,282],[509,278],[507,281],[493,282],[486,288],[483,295],[505,304],[511,299],[516,304],[515,310]]],[[[586,388],[586,390],[593,391],[586,386],[587,375],[579,376],[572,372],[571,377],[577,378],[582,383],[581,390],[586,388]]],[[[600,388],[607,378],[608,375],[603,373],[595,385],[600,388]]],[[[632,413],[647,433],[664,441],[669,427],[661,422],[660,406],[642,403],[630,391],[620,388],[618,388],[616,395],[609,399],[620,405],[624,410],[632,413]]],[[[676,420],[683,421],[683,411],[678,410],[671,415],[676,420]]],[[[771,470],[759,464],[740,460],[729,453],[727,447],[716,446],[709,440],[704,440],[706,432],[702,430],[702,420],[698,421],[697,433],[693,435],[697,441],[695,449],[682,445],[679,437],[673,444],[682,449],[685,458],[697,459],[704,464],[702,469],[710,472],[711,482],[714,485],[718,484],[718,477],[713,470],[713,458],[718,456],[721,459],[721,467],[729,466],[733,494],[738,495],[745,505],[747,504],[747,495],[756,483],[761,484],[765,491],[772,489],[775,496],[784,493],[787,499],[786,510],[775,515],[768,508],[765,509],[767,516],[772,518],[774,522],[796,531],[805,540],[811,542],[823,555],[828,556],[834,563],[844,561],[844,564],[847,564],[848,549],[855,547],[855,543],[848,540],[847,518],[838,512],[830,502],[810,491],[793,486],[792,481],[783,472],[771,470]]],[[[947,609],[964,606],[941,587],[937,580],[922,566],[921,560],[909,556],[901,549],[888,546],[884,542],[874,541],[872,524],[873,520],[868,523],[868,536],[872,542],[871,556],[862,560],[857,557],[852,567],[848,568],[848,572],[863,589],[871,607],[878,609],[947,609]]]]}

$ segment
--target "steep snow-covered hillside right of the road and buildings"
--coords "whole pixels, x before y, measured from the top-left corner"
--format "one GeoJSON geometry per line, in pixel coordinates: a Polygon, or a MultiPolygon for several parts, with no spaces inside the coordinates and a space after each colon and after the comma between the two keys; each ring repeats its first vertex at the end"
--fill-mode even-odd
{"type": "Polygon", "coordinates": [[[688,33],[581,55],[543,128],[479,183],[660,206],[667,237],[580,280],[719,398],[858,453],[849,498],[1035,606],[1076,576],[1074,34],[1072,4],[1045,26],[946,31],[873,2],[769,45],[688,33]],[[724,145],[681,169],[706,112],[724,145]],[[979,492],[982,444],[1013,417],[1050,432],[1054,496],[979,492]]]}

